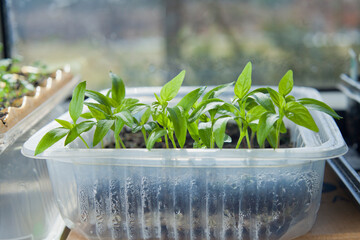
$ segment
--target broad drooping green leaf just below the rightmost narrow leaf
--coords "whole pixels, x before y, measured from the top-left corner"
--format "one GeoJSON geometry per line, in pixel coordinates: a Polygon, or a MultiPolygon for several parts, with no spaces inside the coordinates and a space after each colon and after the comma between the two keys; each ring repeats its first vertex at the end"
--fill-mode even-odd
{"type": "Polygon", "coordinates": [[[306,127],[314,132],[319,131],[309,110],[298,102],[289,102],[286,104],[285,116],[297,125],[306,127]]]}

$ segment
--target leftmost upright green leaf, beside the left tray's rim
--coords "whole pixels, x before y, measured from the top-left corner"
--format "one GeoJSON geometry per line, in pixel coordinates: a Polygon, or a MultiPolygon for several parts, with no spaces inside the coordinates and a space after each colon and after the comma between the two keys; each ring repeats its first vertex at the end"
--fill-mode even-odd
{"type": "Polygon", "coordinates": [[[85,89],[86,82],[84,81],[79,83],[73,91],[72,99],[69,104],[69,113],[74,123],[76,123],[83,110],[85,89]]]}

